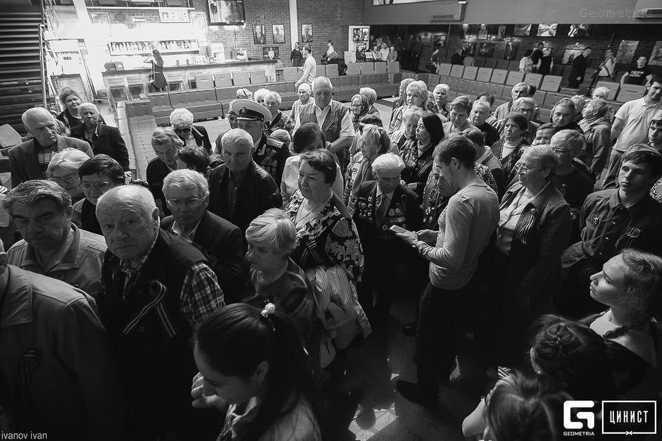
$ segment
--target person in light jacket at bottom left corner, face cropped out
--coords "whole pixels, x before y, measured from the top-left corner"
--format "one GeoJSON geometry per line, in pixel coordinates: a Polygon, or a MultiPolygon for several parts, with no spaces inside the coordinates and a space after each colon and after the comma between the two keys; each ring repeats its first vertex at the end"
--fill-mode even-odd
{"type": "Polygon", "coordinates": [[[9,259],[0,242],[3,428],[8,418],[10,432],[48,433],[53,440],[125,440],[125,403],[92,299],[9,259]]]}

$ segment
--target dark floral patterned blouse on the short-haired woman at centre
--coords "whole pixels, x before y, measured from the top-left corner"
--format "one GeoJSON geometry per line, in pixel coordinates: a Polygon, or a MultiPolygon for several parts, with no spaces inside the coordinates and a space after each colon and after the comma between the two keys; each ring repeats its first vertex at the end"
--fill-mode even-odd
{"type": "MultiPolygon", "coordinates": [[[[296,223],[296,213],[305,198],[299,190],[292,194],[287,213],[296,223]]],[[[363,272],[363,249],[356,225],[327,202],[322,211],[302,227],[296,228],[296,249],[289,256],[302,269],[340,265],[356,281],[363,272]]]]}

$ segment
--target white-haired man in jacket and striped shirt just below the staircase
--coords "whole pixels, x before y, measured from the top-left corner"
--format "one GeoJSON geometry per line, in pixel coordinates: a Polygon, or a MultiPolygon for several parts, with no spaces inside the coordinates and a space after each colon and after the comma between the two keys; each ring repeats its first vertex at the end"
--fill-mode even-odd
{"type": "Polygon", "coordinates": [[[21,116],[27,132],[33,136],[29,141],[9,150],[11,185],[31,179],[48,178],[49,162],[58,151],[73,147],[92,156],[92,149],[80,139],[58,135],[58,124],[51,112],[42,107],[27,109],[21,116]]]}

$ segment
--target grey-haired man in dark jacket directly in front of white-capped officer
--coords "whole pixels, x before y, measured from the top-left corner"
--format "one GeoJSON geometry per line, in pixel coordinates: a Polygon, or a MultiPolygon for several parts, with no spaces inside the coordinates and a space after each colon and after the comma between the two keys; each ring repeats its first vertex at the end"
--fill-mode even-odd
{"type": "Polygon", "coordinates": [[[225,163],[209,175],[209,211],[237,225],[243,233],[254,218],[280,207],[282,198],[273,178],[253,160],[255,147],[248,132],[228,130],[221,144],[225,163]]]}

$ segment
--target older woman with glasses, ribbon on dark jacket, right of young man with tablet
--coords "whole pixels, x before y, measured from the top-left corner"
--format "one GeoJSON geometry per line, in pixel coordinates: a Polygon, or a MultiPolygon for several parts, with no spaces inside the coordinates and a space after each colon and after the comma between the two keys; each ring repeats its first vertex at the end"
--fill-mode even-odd
{"type": "Polygon", "coordinates": [[[558,165],[547,146],[528,147],[516,164],[518,182],[501,199],[490,290],[502,366],[513,366],[525,349],[530,323],[551,311],[561,289],[561,254],[570,239],[570,206],[551,176],[558,165]]]}

